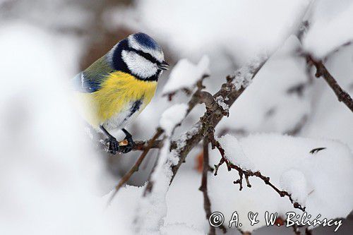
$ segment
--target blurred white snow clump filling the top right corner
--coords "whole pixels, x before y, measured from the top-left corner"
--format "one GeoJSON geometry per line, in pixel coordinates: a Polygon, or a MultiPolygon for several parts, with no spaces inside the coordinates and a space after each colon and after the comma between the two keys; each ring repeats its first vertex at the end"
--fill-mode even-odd
{"type": "Polygon", "coordinates": [[[318,59],[353,40],[352,1],[318,1],[304,37],[304,49],[318,59]]]}

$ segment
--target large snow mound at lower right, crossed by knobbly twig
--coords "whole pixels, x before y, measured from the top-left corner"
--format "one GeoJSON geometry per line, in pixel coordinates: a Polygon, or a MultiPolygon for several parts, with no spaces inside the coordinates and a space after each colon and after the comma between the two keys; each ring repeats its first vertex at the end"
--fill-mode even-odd
{"type": "MultiPolygon", "coordinates": [[[[353,156],[347,145],[334,140],[278,134],[249,135],[241,138],[239,145],[244,155],[263,175],[269,176],[275,186],[287,188],[294,198],[305,201],[306,212],[312,217],[318,214],[333,219],[347,217],[352,210],[353,156]],[[326,149],[316,155],[309,153],[316,147],[326,149]]],[[[210,164],[217,164],[219,159],[220,153],[212,150],[210,164]]],[[[249,211],[258,212],[261,216],[266,210],[279,215],[292,211],[302,213],[294,209],[288,198],[281,198],[256,177],[249,178],[251,188],[244,187],[239,191],[239,187],[232,183],[237,177],[237,171],[227,171],[225,166],[220,167],[217,176],[209,177],[212,210],[222,212],[225,218],[230,218],[234,210],[240,218],[247,218],[249,211]]],[[[241,229],[253,231],[265,226],[265,221],[259,220],[258,224],[250,226],[248,219],[241,219],[241,229]]]]}

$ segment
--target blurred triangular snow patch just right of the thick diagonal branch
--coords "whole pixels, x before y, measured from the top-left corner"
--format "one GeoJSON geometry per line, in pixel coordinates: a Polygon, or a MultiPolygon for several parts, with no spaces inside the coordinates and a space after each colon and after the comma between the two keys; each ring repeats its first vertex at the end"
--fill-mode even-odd
{"type": "Polygon", "coordinates": [[[251,85],[229,107],[229,118],[220,121],[218,130],[287,133],[311,114],[313,95],[318,95],[311,85],[306,85],[302,95],[288,93],[290,88],[309,83],[305,60],[293,56],[298,47],[299,40],[292,36],[270,56],[251,85]]]}

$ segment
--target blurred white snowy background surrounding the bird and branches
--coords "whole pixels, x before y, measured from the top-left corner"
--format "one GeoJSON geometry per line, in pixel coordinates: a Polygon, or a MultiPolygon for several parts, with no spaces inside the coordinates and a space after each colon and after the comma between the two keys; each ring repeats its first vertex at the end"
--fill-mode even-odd
{"type": "MultiPolygon", "coordinates": [[[[184,118],[189,97],[177,92],[169,101],[164,94],[192,89],[203,73],[210,75],[205,90],[213,94],[227,75],[269,56],[217,126],[218,140],[231,162],[270,176],[313,217],[347,217],[335,234],[353,233],[353,113],[302,56],[322,59],[353,95],[352,0],[0,0],[0,234],[208,233],[198,191],[202,145],[189,153],[169,188],[164,167],[174,163],[164,146],[160,155],[166,159],[158,159],[162,167],[152,175],[160,179],[160,192],[146,199],[145,181],[157,157],[157,150],[150,151],[107,205],[140,152],[112,156],[97,150],[67,85],[133,32],[155,38],[172,67],[150,105],[127,127],[135,140],[184,118]],[[304,20],[310,27],[300,42],[295,35],[304,20]],[[316,147],[326,149],[309,153],[316,147]]],[[[193,109],[164,138],[179,138],[204,110],[193,109]]],[[[210,165],[219,160],[220,153],[210,150],[210,165]]],[[[239,191],[237,177],[225,166],[208,175],[211,210],[226,218],[237,210],[244,218],[241,229],[253,234],[293,234],[291,228],[264,227],[263,220],[253,227],[246,222],[249,211],[301,211],[256,178],[239,191]]],[[[313,234],[333,230],[319,227],[313,234]]]]}

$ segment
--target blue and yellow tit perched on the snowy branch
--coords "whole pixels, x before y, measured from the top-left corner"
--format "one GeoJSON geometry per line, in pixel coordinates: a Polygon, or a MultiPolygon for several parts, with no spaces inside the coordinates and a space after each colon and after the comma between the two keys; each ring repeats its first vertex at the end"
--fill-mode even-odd
{"type": "Polygon", "coordinates": [[[113,155],[132,150],[133,138],[125,127],[150,103],[162,71],[168,68],[160,45],[137,32],[117,42],[72,79],[80,114],[92,128],[106,135],[113,155]],[[110,133],[116,129],[126,135],[124,150],[110,133]]]}

